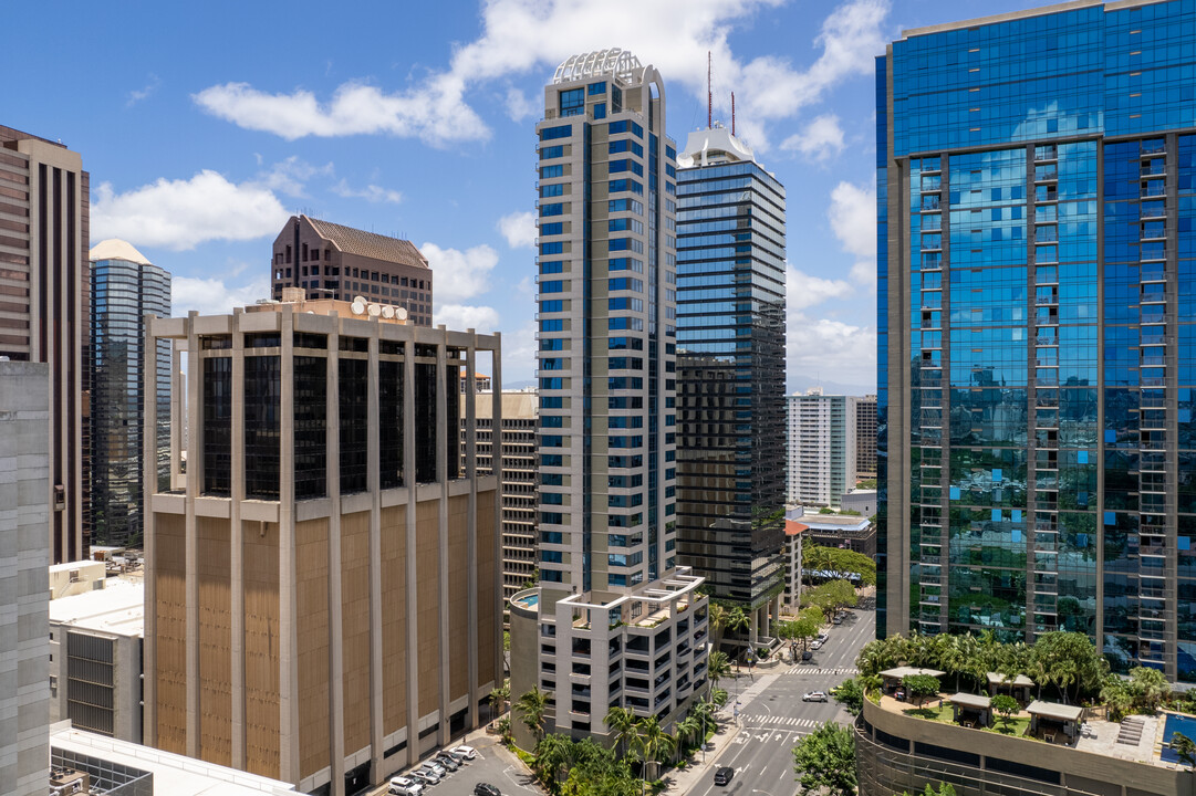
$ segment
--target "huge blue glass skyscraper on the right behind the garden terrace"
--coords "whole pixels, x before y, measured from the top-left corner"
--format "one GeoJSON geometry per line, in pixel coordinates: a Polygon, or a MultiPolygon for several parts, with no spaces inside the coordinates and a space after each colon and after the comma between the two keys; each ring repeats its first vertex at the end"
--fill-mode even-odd
{"type": "Polygon", "coordinates": [[[1191,681],[1196,0],[1068,6],[878,61],[878,630],[1191,681]]]}

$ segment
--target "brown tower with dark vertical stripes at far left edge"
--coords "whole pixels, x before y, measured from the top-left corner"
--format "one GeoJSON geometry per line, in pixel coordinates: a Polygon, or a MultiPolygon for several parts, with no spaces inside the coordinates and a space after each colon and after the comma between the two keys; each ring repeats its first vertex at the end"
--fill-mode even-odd
{"type": "Polygon", "coordinates": [[[0,357],[50,366],[50,563],[87,557],[89,180],[78,152],[0,127],[0,357]]]}

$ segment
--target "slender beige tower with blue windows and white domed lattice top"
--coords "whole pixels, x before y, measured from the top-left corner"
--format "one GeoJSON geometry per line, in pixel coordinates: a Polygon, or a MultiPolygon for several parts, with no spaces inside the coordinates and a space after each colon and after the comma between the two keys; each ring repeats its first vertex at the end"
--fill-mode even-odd
{"type": "Polygon", "coordinates": [[[512,692],[605,735],[706,681],[706,598],[676,550],[676,149],[660,74],[570,57],[536,125],[539,588],[512,600],[512,692]]]}

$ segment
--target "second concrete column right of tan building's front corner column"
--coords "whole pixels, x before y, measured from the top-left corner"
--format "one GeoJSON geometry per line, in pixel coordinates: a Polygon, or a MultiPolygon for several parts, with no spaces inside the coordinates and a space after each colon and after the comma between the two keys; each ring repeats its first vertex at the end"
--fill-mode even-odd
{"type": "Polygon", "coordinates": [[[366,489],[370,490],[370,773],[371,782],[382,784],[383,765],[383,678],[382,678],[382,476],[379,471],[378,423],[378,333],[370,338],[366,416],[370,434],[366,440],[366,489]]]}

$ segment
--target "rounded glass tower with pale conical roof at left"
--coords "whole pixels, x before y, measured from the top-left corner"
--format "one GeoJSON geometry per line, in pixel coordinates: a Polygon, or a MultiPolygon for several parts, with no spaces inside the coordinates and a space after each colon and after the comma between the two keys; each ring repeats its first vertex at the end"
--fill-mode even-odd
{"type": "MultiPolygon", "coordinates": [[[[145,314],[170,317],[170,274],[116,239],[91,250],[91,541],[139,546],[144,528],[145,314]]],[[[169,342],[159,344],[157,366],[158,417],[169,418],[169,342]]],[[[165,421],[158,429],[158,451],[165,465],[170,453],[165,421]]]]}

